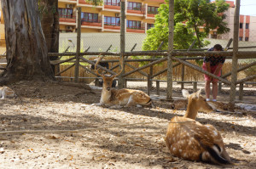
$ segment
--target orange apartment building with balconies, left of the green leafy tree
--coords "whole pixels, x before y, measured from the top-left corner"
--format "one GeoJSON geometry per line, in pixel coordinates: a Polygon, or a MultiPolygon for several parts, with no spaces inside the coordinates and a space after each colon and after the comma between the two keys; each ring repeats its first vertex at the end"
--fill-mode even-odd
{"type": "MultiPolygon", "coordinates": [[[[146,33],[154,26],[154,15],[164,0],[125,0],[125,32],[146,33]]],[[[82,32],[119,32],[120,0],[104,0],[94,6],[84,0],[59,0],[60,31],[74,32],[81,7],[82,32]]]]}

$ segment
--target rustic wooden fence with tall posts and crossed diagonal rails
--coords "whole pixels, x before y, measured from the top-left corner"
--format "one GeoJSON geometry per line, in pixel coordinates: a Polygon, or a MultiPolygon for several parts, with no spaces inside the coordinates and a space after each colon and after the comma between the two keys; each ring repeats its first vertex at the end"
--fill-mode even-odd
{"type": "MultiPolygon", "coordinates": [[[[122,58],[124,60],[123,67],[129,67],[131,68],[131,70],[123,70],[123,72],[120,74],[119,76],[119,88],[125,87],[125,81],[127,80],[127,77],[130,76],[133,73],[140,73],[141,75],[143,75],[147,81],[148,81],[148,93],[150,93],[150,88],[152,86],[152,81],[154,80],[154,77],[160,76],[163,73],[167,72],[167,78],[166,78],[166,82],[167,82],[167,88],[166,88],[166,99],[167,100],[172,100],[172,69],[177,67],[178,65],[183,65],[186,67],[189,67],[193,70],[199,71],[203,74],[206,74],[208,76],[212,76],[214,78],[217,78],[219,80],[220,83],[224,83],[230,86],[230,105],[234,106],[235,103],[235,97],[236,97],[236,85],[240,84],[240,88],[242,90],[242,86],[245,82],[248,82],[252,79],[256,78],[256,75],[252,75],[252,76],[247,76],[246,78],[243,78],[241,80],[237,80],[237,73],[241,70],[246,70],[248,68],[250,68],[253,65],[256,65],[256,62],[254,61],[251,64],[242,66],[240,68],[238,68],[237,66],[237,60],[238,59],[256,59],[256,52],[254,51],[249,51],[249,52],[245,52],[245,51],[238,51],[238,30],[239,30],[239,10],[240,10],[240,0],[236,1],[236,9],[235,9],[235,24],[234,24],[234,42],[233,42],[233,48],[230,48],[230,43],[232,42],[232,39],[230,39],[230,42],[226,45],[225,47],[225,51],[221,51],[221,52],[206,52],[205,48],[201,48],[201,49],[193,49],[193,45],[192,44],[190,46],[190,48],[188,49],[178,49],[178,50],[173,50],[173,15],[174,15],[174,10],[173,10],[173,4],[174,4],[174,0],[170,0],[169,1],[169,41],[168,41],[168,50],[167,51],[163,51],[160,50],[160,48],[156,51],[137,51],[134,52],[131,51],[130,52],[125,52],[125,2],[121,2],[121,31],[120,31],[120,53],[113,53],[113,52],[89,52],[88,49],[84,51],[84,53],[80,53],[80,37],[81,37],[81,30],[80,30],[80,25],[78,26],[78,36],[77,36],[77,52],[76,53],[62,53],[62,54],[48,54],[49,57],[52,56],[59,56],[60,58],[62,56],[70,56],[69,59],[65,59],[65,60],[55,60],[55,61],[51,61],[51,65],[60,65],[62,63],[73,63],[72,65],[68,65],[67,68],[65,68],[64,70],[61,70],[59,72],[57,72],[55,75],[56,76],[60,76],[63,72],[70,70],[74,67],[74,71],[75,71],[75,76],[74,78],[74,82],[79,82],[79,71],[81,71],[80,69],[84,70],[85,72],[90,72],[90,74],[96,76],[96,73],[93,70],[90,70],[88,66],[84,66],[81,63],[87,63],[89,65],[95,65],[95,62],[90,60],[90,59],[86,59],[86,57],[84,56],[96,56],[99,54],[105,55],[105,56],[119,56],[120,58],[122,58]],[[229,51],[228,51],[229,50],[229,51]],[[200,60],[203,59],[204,56],[213,56],[213,55],[218,55],[218,56],[224,56],[226,57],[226,59],[232,59],[232,70],[226,74],[224,74],[223,76],[215,76],[209,72],[207,72],[206,70],[202,70],[201,66],[195,65],[193,63],[190,63],[189,60],[200,60]],[[129,58],[129,56],[151,56],[150,59],[131,59],[129,58]],[[156,56],[159,56],[160,58],[155,58],[156,56]],[[135,67],[132,66],[130,63],[131,62],[142,62],[142,61],[148,61],[147,65],[143,65],[141,67],[135,67]],[[175,61],[175,62],[174,62],[175,61]],[[153,66],[163,63],[163,62],[167,62],[167,66],[166,69],[164,70],[160,70],[158,72],[154,72],[153,71],[153,66]],[[80,67],[80,69],[79,69],[80,67]],[[145,73],[142,70],[144,69],[149,69],[149,73],[145,73]],[[231,76],[231,81],[228,81],[226,79],[226,77],[231,76]],[[126,80],[125,80],[126,78],[126,80]]],[[[78,20],[81,20],[81,8],[78,8],[78,20]]],[[[80,22],[78,22],[80,23],[80,22]]],[[[254,47],[244,47],[244,48],[255,48],[254,47]]],[[[118,59],[113,59],[113,60],[102,60],[102,62],[108,62],[108,63],[114,63],[114,62],[119,62],[118,59]]],[[[114,69],[119,67],[119,64],[114,65],[111,69],[106,69],[100,65],[98,65],[99,68],[101,68],[102,70],[107,71],[110,74],[115,74],[115,72],[113,71],[114,69]]],[[[183,78],[184,76],[184,72],[182,73],[181,76],[181,84],[186,83],[183,78]]],[[[91,78],[91,77],[90,77],[91,78]]],[[[194,88],[196,88],[196,82],[194,82],[194,88]]],[[[159,82],[157,83],[159,84],[159,82]]],[[[181,86],[183,87],[183,85],[181,86]]],[[[239,99],[241,99],[242,96],[239,97],[239,99]]]]}

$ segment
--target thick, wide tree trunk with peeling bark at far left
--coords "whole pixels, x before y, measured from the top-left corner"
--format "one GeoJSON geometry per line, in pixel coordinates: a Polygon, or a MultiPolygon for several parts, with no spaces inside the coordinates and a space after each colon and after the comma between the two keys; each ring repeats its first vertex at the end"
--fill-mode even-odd
{"type": "Polygon", "coordinates": [[[6,71],[0,83],[54,79],[47,57],[38,1],[2,0],[6,38],[6,71]]]}

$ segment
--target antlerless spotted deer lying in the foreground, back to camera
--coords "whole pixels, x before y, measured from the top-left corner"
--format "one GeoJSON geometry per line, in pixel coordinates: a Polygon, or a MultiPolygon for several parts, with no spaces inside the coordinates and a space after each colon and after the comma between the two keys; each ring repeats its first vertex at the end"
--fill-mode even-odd
{"type": "Polygon", "coordinates": [[[201,96],[201,90],[192,94],[184,89],[182,92],[183,97],[189,99],[189,104],[186,114],[173,117],[167,128],[166,146],[171,154],[189,161],[231,164],[218,130],[195,121],[198,110],[212,111],[201,96]]]}

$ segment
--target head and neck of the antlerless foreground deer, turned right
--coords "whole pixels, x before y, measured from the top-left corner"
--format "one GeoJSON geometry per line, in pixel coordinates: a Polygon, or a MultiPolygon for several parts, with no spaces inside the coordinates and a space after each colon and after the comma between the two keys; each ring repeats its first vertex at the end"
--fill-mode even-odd
{"type": "Polygon", "coordinates": [[[185,89],[182,90],[183,97],[189,99],[188,108],[184,117],[195,119],[198,110],[212,112],[212,107],[207,103],[207,99],[201,96],[201,89],[196,93],[189,94],[185,89]]]}

